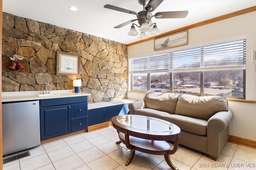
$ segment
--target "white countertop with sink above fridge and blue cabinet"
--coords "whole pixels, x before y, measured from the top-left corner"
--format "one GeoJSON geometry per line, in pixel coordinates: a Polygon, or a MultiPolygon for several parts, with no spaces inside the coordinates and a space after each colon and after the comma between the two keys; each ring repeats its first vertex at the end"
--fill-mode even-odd
{"type": "Polygon", "coordinates": [[[54,98],[70,98],[79,96],[90,96],[89,93],[74,93],[74,90],[51,90],[51,94],[58,96],[37,96],[42,94],[42,91],[27,91],[27,92],[2,92],[2,102],[18,102],[26,100],[42,100],[54,98]]]}

